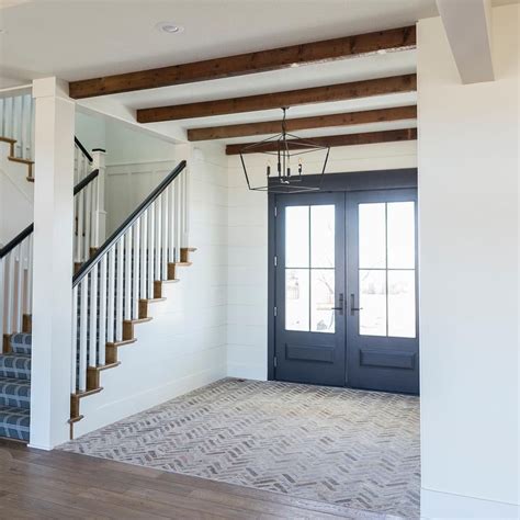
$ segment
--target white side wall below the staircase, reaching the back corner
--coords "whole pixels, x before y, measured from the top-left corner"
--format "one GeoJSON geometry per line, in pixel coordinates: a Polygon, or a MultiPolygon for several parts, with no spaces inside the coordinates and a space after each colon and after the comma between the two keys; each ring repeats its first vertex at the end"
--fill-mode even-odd
{"type": "Polygon", "coordinates": [[[120,349],[121,366],[102,373],[103,392],[82,399],[75,436],[226,376],[227,165],[219,147],[199,148],[177,150],[189,160],[193,265],[165,284],[152,321],[137,325],[137,342],[120,349]]]}

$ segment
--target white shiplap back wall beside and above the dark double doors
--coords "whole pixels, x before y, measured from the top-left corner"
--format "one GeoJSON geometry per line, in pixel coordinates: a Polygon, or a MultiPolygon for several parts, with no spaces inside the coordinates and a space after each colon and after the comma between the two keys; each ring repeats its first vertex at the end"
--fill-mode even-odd
{"type": "MultiPolygon", "coordinates": [[[[319,162],[304,156],[308,172],[319,162]]],[[[319,159],[319,158],[318,158],[319,159]]],[[[246,158],[250,172],[264,182],[265,156],[246,158]]],[[[330,149],[327,172],[392,170],[417,167],[417,143],[384,143],[330,149]]],[[[227,373],[268,376],[268,195],[249,191],[239,156],[228,158],[228,330],[227,373]]]]}

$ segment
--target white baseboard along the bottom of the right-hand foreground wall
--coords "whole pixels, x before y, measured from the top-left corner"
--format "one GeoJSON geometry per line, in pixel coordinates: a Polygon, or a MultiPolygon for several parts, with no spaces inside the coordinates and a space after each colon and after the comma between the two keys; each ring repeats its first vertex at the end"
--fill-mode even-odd
{"type": "Polygon", "coordinates": [[[518,519],[520,506],[421,488],[423,519],[518,519]]]}

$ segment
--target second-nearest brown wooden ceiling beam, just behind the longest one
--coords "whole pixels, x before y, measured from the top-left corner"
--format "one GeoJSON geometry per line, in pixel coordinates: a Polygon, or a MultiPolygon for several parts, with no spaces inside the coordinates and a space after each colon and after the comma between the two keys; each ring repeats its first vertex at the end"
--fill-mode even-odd
{"type": "Polygon", "coordinates": [[[204,101],[137,111],[138,123],[158,123],[160,121],[207,117],[212,115],[237,114],[259,110],[280,109],[303,104],[325,103],[331,101],[354,100],[402,92],[414,92],[417,89],[415,74],[393,76],[389,78],[352,81],[350,83],[313,87],[309,89],[287,90],[269,94],[247,95],[225,100],[204,101]]]}

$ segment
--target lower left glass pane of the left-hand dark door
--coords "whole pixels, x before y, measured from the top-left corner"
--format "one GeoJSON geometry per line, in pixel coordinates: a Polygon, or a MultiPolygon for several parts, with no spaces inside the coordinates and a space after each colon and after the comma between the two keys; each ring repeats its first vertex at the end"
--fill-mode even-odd
{"type": "Polygon", "coordinates": [[[309,270],[285,269],[285,329],[307,330],[309,326],[309,270]]]}

